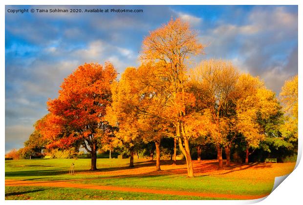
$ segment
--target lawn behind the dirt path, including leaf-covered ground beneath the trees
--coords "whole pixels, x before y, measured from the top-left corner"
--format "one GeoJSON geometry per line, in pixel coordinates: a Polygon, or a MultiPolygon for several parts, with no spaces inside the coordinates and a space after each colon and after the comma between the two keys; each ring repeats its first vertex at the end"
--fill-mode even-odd
{"type": "MultiPolygon", "coordinates": [[[[204,161],[199,165],[203,167],[203,170],[216,166],[214,162],[216,161],[204,161]]],[[[269,194],[274,184],[274,177],[290,173],[295,163],[261,163],[239,166],[238,168],[235,166],[235,168],[230,170],[222,171],[210,169],[206,170],[205,173],[196,172],[197,176],[195,178],[187,178],[186,172],[178,173],[174,171],[174,169],[180,170],[178,168],[184,167],[184,164],[177,166],[162,165],[163,171],[161,172],[154,171],[155,167],[144,159],[135,160],[137,168],[130,169],[128,165],[129,159],[98,159],[97,167],[100,170],[98,172],[87,172],[90,167],[89,159],[10,160],[5,162],[5,179],[25,181],[75,180],[70,183],[204,193],[261,195],[269,194]],[[75,175],[68,174],[69,165],[72,162],[75,163],[75,175]]],[[[62,189],[52,189],[54,192],[60,190],[62,189]]],[[[87,190],[83,190],[83,193],[86,192],[87,190]]],[[[123,198],[124,193],[117,192],[118,195],[123,198]]],[[[148,195],[146,195],[146,199],[148,199],[148,195]]]]}

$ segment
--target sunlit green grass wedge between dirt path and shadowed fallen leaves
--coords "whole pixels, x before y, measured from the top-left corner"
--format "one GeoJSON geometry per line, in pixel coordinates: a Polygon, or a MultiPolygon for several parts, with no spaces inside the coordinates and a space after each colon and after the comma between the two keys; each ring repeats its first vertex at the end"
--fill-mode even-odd
{"type": "MultiPolygon", "coordinates": [[[[79,183],[79,182],[74,182],[79,183]]],[[[122,187],[141,187],[160,190],[192,191],[204,193],[225,193],[237,195],[269,194],[274,181],[254,183],[251,179],[238,179],[235,177],[197,176],[140,176],[126,178],[110,178],[83,181],[85,184],[111,185],[122,187]],[[253,185],[252,185],[253,184],[253,185]]]]}

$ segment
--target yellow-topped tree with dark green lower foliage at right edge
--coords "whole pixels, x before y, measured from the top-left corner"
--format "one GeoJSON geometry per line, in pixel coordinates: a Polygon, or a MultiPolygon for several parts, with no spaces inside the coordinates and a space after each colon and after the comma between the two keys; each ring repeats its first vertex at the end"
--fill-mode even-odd
{"type": "Polygon", "coordinates": [[[298,76],[285,81],[279,98],[282,106],[277,107],[277,112],[259,119],[266,135],[260,148],[283,160],[283,156],[296,154],[298,149],[298,76]]]}

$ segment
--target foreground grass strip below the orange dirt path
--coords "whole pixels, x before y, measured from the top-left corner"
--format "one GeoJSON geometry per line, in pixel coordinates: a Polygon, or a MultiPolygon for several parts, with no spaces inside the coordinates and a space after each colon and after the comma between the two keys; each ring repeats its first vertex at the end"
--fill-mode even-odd
{"type": "Polygon", "coordinates": [[[6,186],[5,200],[226,200],[225,198],[100,191],[79,188],[6,186]]]}

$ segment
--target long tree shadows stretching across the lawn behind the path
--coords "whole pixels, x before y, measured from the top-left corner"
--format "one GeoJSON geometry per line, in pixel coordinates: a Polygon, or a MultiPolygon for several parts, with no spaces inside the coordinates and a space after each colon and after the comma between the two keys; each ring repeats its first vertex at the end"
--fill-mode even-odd
{"type": "MultiPolygon", "coordinates": [[[[161,165],[172,165],[173,161],[170,160],[163,160],[161,161],[161,165]]],[[[177,165],[186,164],[185,160],[178,160],[177,165]]],[[[248,166],[243,166],[243,164],[233,164],[231,167],[225,167],[224,173],[217,173],[217,174],[207,174],[207,172],[212,172],[217,169],[217,162],[216,160],[212,160],[210,162],[205,161],[193,161],[194,164],[194,171],[195,173],[205,173],[206,175],[200,175],[200,176],[214,176],[214,175],[224,175],[244,169],[249,169],[253,166],[259,167],[262,165],[259,165],[259,163],[253,163],[248,166]]],[[[102,164],[100,164],[102,165],[102,164]]],[[[99,168],[97,171],[89,171],[88,169],[76,169],[76,175],[77,174],[88,174],[87,177],[84,177],[82,179],[69,179],[69,180],[62,180],[63,181],[84,181],[84,180],[98,180],[98,179],[114,179],[114,178],[143,178],[143,177],[158,177],[158,176],[167,176],[167,175],[186,175],[187,174],[187,168],[186,167],[177,167],[172,165],[170,169],[162,170],[162,171],[156,171],[155,168],[150,168],[150,171],[146,173],[128,173],[128,174],[122,174],[119,176],[93,176],[89,178],[89,174],[91,175],[98,175],[98,172],[110,172],[110,171],[123,171],[123,170],[131,170],[135,168],[140,167],[155,167],[156,162],[155,161],[144,161],[144,162],[135,162],[133,168],[130,168],[128,166],[119,166],[119,167],[107,167],[107,168],[99,168]]],[[[29,165],[30,166],[30,165],[29,165]]],[[[32,165],[36,166],[36,165],[32,165]]],[[[43,166],[43,165],[37,165],[37,166],[43,166]]],[[[46,166],[46,165],[44,165],[46,166]]],[[[267,167],[267,166],[266,166],[267,167]]],[[[25,179],[25,180],[36,180],[36,179],[43,179],[43,176],[45,178],[51,178],[46,176],[56,176],[56,175],[63,175],[68,174],[68,169],[48,169],[48,170],[26,170],[26,171],[10,171],[5,172],[5,177],[41,177],[41,178],[33,178],[33,179],[25,179]]],[[[23,181],[25,181],[23,180],[23,181]]],[[[57,181],[59,182],[59,181],[57,181]]]]}

